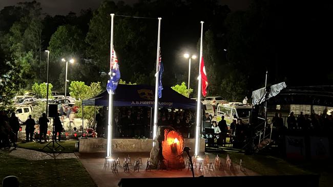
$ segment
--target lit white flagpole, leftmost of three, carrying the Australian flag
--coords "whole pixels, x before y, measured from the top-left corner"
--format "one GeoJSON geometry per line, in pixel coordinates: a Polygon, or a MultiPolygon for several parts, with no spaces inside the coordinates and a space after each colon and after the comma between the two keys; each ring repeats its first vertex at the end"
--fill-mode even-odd
{"type": "MultiPolygon", "coordinates": [[[[111,60],[113,56],[113,17],[114,14],[111,15],[111,41],[110,41],[110,72],[111,72],[111,60]]],[[[112,156],[112,122],[113,122],[113,98],[111,91],[109,92],[109,114],[108,114],[108,145],[107,145],[107,156],[112,156]]]]}

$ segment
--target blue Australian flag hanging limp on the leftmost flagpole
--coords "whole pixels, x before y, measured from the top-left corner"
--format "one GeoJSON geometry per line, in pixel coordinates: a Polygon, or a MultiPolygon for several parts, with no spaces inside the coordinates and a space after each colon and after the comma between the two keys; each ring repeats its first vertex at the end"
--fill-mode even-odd
{"type": "Polygon", "coordinates": [[[113,50],[111,52],[111,61],[110,61],[110,80],[108,80],[107,90],[108,92],[114,94],[114,91],[117,89],[119,80],[120,80],[120,70],[118,65],[118,59],[116,52],[113,50]]]}

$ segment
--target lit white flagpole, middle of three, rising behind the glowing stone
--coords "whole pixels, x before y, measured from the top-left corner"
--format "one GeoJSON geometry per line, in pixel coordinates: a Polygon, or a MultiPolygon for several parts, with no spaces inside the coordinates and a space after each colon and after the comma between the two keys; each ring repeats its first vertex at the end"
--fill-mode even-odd
{"type": "Polygon", "coordinates": [[[154,139],[156,137],[157,131],[157,114],[158,114],[158,81],[159,81],[159,39],[161,30],[161,19],[158,18],[158,34],[157,34],[157,56],[156,56],[156,74],[155,74],[155,103],[154,103],[154,129],[153,129],[153,146],[155,146],[154,139]]]}

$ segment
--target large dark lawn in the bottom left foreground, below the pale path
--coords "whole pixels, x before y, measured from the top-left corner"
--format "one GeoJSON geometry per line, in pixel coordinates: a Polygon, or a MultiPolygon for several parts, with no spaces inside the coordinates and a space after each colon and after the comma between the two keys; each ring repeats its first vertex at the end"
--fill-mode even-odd
{"type": "Polygon", "coordinates": [[[0,153],[0,179],[8,175],[17,176],[20,186],[97,186],[77,159],[35,161],[0,153]]]}

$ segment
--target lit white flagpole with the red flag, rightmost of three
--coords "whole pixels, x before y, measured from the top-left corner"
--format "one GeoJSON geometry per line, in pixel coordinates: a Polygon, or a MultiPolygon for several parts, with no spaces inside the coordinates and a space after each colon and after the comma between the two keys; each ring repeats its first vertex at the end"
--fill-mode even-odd
{"type": "Polygon", "coordinates": [[[195,156],[199,156],[199,148],[200,148],[200,144],[199,144],[199,136],[200,136],[200,121],[201,121],[201,112],[200,112],[200,108],[201,108],[201,60],[202,60],[202,31],[203,31],[203,21],[200,21],[201,23],[201,36],[200,36],[200,57],[199,57],[199,77],[198,77],[198,100],[197,100],[197,126],[195,129],[195,152],[194,155],[195,156]]]}

